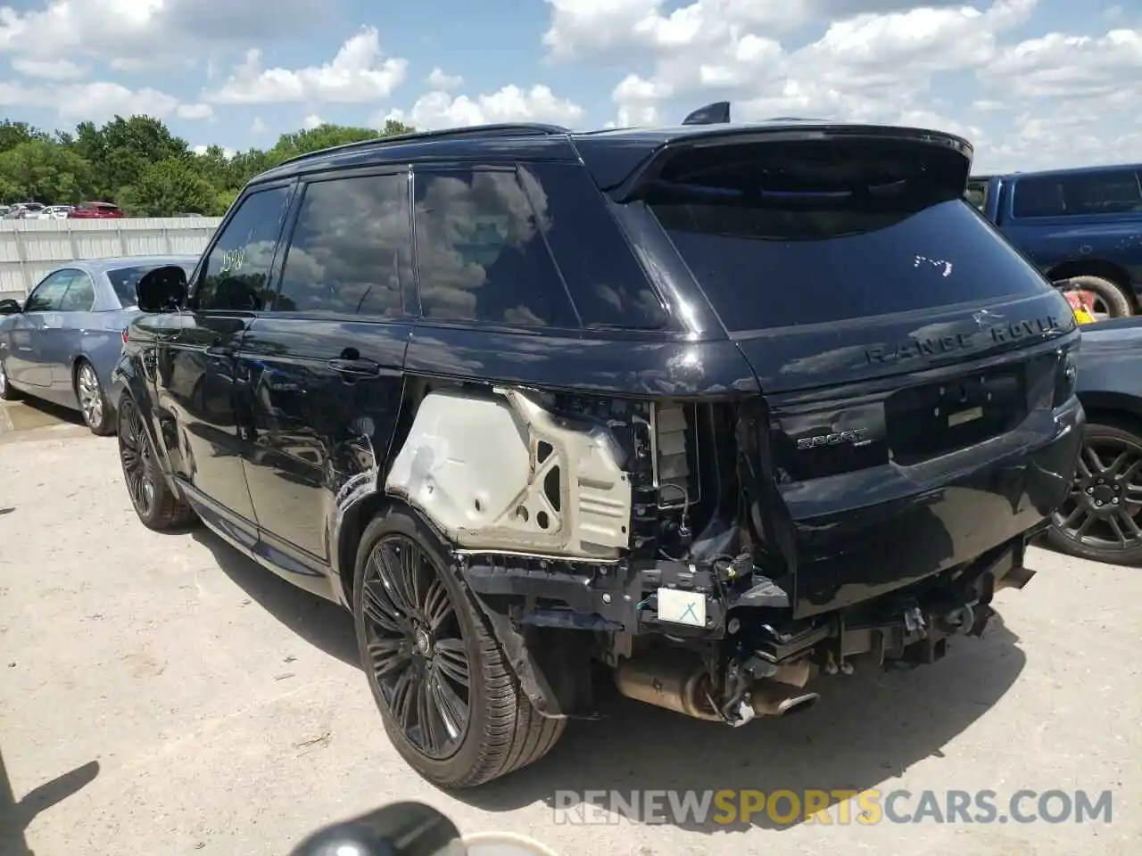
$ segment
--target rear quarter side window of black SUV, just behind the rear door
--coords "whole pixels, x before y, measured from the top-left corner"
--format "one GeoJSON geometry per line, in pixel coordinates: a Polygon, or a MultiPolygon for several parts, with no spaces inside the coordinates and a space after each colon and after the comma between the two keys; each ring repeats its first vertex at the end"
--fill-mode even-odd
{"type": "Polygon", "coordinates": [[[513,170],[416,175],[415,229],[426,318],[508,326],[577,328],[534,208],[513,170]]]}

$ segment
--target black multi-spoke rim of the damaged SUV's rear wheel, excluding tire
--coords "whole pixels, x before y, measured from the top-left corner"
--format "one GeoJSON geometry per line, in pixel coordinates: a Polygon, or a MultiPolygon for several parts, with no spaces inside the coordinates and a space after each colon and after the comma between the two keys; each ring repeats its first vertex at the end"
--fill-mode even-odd
{"type": "Polygon", "coordinates": [[[368,667],[389,714],[419,753],[450,758],[468,730],[472,665],[440,571],[412,539],[385,535],[363,593],[368,667]]]}

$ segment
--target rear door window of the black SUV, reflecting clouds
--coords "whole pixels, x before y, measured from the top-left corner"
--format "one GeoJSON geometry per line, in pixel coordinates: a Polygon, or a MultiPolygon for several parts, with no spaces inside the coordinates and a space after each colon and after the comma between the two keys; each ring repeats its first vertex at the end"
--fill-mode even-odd
{"type": "Polygon", "coordinates": [[[408,172],[306,186],[274,312],[396,316],[411,284],[408,172]]]}

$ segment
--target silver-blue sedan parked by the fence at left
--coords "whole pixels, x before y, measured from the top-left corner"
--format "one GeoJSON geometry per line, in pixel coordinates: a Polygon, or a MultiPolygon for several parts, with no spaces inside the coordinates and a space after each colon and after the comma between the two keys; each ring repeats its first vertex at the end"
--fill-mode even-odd
{"type": "Polygon", "coordinates": [[[42,398],[80,411],[95,434],[113,434],[106,390],[123,330],[139,313],[135,286],[152,268],[179,265],[190,276],[195,264],[196,256],[145,256],[53,270],[22,307],[0,307],[0,398],[42,398]]]}

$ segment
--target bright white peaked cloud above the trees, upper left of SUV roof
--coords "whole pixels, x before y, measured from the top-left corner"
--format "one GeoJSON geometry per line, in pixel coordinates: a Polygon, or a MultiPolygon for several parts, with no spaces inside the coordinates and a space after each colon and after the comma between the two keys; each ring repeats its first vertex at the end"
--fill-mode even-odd
{"type": "Polygon", "coordinates": [[[388,98],[408,73],[408,60],[385,57],[376,27],[351,37],[337,56],[306,68],[263,68],[262,53],[247,51],[246,62],[208,100],[218,104],[339,102],[361,104],[388,98]]]}

